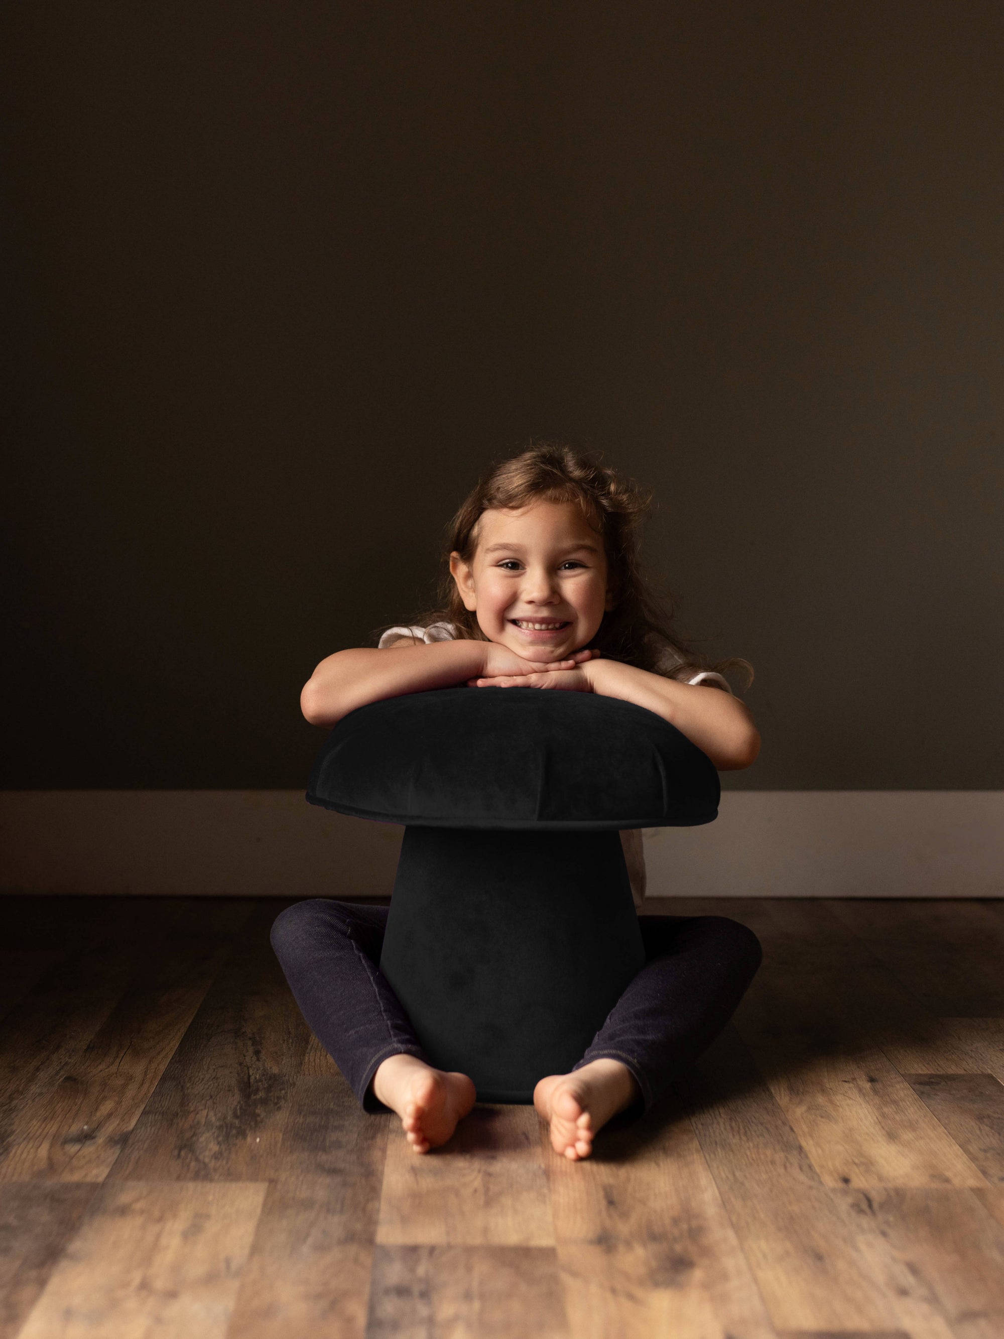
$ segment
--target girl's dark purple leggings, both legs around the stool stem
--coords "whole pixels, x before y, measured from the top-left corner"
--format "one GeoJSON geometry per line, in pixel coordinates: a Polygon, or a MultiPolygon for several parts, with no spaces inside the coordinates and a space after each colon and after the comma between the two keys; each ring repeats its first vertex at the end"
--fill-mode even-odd
{"type": "MultiPolygon", "coordinates": [[[[411,1023],[380,975],[388,908],[325,897],[286,908],[272,945],[304,1018],[367,1111],[384,1110],[372,1081],[388,1055],[426,1059],[411,1023]]],[[[644,1109],[714,1042],[760,965],[751,929],[723,916],[640,916],[645,965],[576,1069],[621,1060],[644,1109]]]]}

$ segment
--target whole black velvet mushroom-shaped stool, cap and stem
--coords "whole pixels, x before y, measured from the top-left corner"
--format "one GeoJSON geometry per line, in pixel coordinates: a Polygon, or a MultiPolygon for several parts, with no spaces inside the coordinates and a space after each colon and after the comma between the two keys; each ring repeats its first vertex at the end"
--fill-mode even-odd
{"type": "Polygon", "coordinates": [[[644,963],[618,829],[711,822],[719,781],[632,703],[440,688],[340,720],[307,798],[406,825],[380,971],[430,1063],[530,1102],[644,963]]]}

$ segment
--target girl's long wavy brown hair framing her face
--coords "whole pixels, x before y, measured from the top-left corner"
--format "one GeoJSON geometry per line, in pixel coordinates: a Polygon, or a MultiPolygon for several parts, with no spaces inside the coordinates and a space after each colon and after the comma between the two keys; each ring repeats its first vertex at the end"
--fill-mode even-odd
{"type": "Polygon", "coordinates": [[[621,478],[597,455],[562,442],[537,442],[518,455],[491,466],[461,503],[447,529],[443,574],[435,609],[420,624],[451,623],[459,637],[486,641],[478,617],[465,608],[450,574],[450,554],[465,562],[478,548],[478,521],[489,509],[517,509],[531,502],[577,502],[589,525],[601,536],[613,593],[613,608],[604,615],[592,645],[612,660],[622,660],[663,674],[684,678],[685,671],[740,671],[747,686],[752,665],[730,659],[709,664],[693,643],[676,627],[675,601],[657,593],[640,557],[641,521],[651,507],[651,495],[621,478]]]}

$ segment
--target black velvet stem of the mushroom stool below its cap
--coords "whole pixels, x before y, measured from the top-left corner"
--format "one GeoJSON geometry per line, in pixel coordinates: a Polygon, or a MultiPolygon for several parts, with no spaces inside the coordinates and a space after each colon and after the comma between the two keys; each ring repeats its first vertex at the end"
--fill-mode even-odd
{"type": "Polygon", "coordinates": [[[644,960],[616,832],[406,828],[380,971],[479,1101],[568,1073],[644,960]]]}

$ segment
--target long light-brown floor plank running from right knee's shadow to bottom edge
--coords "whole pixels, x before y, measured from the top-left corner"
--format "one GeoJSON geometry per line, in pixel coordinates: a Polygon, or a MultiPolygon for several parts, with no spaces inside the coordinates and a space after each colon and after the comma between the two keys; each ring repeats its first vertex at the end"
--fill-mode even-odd
{"type": "Polygon", "coordinates": [[[823,1186],[730,1027],[683,1075],[701,1150],[778,1330],[905,1328],[949,1339],[905,1271],[823,1186]]]}

